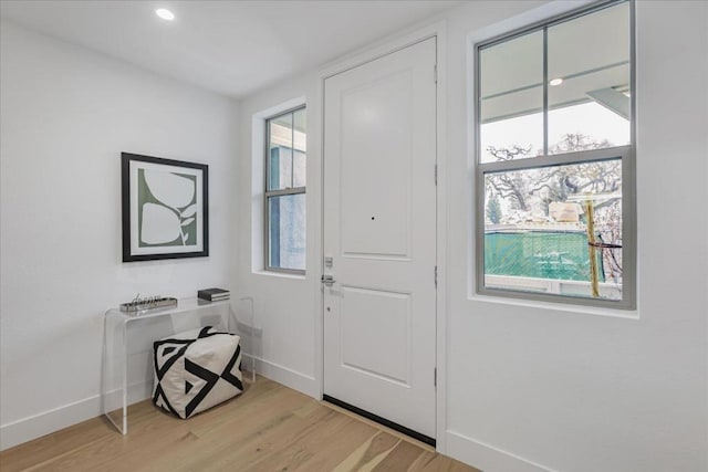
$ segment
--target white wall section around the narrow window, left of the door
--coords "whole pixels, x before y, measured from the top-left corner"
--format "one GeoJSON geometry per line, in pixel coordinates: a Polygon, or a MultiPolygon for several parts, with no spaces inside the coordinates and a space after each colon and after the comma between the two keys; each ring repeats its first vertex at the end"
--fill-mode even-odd
{"type": "MultiPolygon", "coordinates": [[[[320,237],[321,237],[321,165],[316,74],[309,73],[287,81],[241,103],[241,159],[239,160],[238,202],[236,223],[238,266],[235,296],[253,298],[254,342],[258,371],[314,397],[320,395],[315,381],[317,344],[315,322],[320,316],[320,237]],[[254,115],[293,106],[293,99],[305,101],[308,119],[308,182],[306,182],[306,273],[283,275],[263,271],[263,145],[253,144],[254,115]],[[290,102],[290,103],[289,103],[290,102]]],[[[263,116],[256,117],[263,122],[263,116]]],[[[258,133],[257,133],[258,135],[258,133]]],[[[262,136],[262,134],[261,134],[262,136]]]]}

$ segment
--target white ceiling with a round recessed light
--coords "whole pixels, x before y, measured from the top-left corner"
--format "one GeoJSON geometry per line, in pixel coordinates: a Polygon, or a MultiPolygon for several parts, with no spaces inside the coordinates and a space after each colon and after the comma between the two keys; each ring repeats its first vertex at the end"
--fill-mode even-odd
{"type": "Polygon", "coordinates": [[[2,0],[0,15],[243,98],[461,1],[2,0]],[[175,13],[160,20],[155,9],[175,13]]]}

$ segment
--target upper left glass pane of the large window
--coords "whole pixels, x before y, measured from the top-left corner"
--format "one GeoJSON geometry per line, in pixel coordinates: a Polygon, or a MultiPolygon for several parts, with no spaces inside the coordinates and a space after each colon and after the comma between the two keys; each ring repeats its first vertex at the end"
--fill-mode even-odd
{"type": "Polygon", "coordinates": [[[543,153],[543,31],[479,52],[481,162],[543,153]]]}

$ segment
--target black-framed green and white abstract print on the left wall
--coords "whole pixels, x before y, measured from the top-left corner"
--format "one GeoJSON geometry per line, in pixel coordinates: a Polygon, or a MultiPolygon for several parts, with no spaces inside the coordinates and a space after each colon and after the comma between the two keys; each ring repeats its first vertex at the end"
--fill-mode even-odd
{"type": "Polygon", "coordinates": [[[121,193],[123,262],[209,255],[208,165],[121,153],[121,193]]]}

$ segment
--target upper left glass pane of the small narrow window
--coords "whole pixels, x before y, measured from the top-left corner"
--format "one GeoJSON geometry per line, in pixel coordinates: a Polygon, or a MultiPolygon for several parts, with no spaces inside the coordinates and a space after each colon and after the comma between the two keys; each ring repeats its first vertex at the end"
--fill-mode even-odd
{"type": "Polygon", "coordinates": [[[292,188],[292,115],[269,120],[268,190],[292,188]]]}

